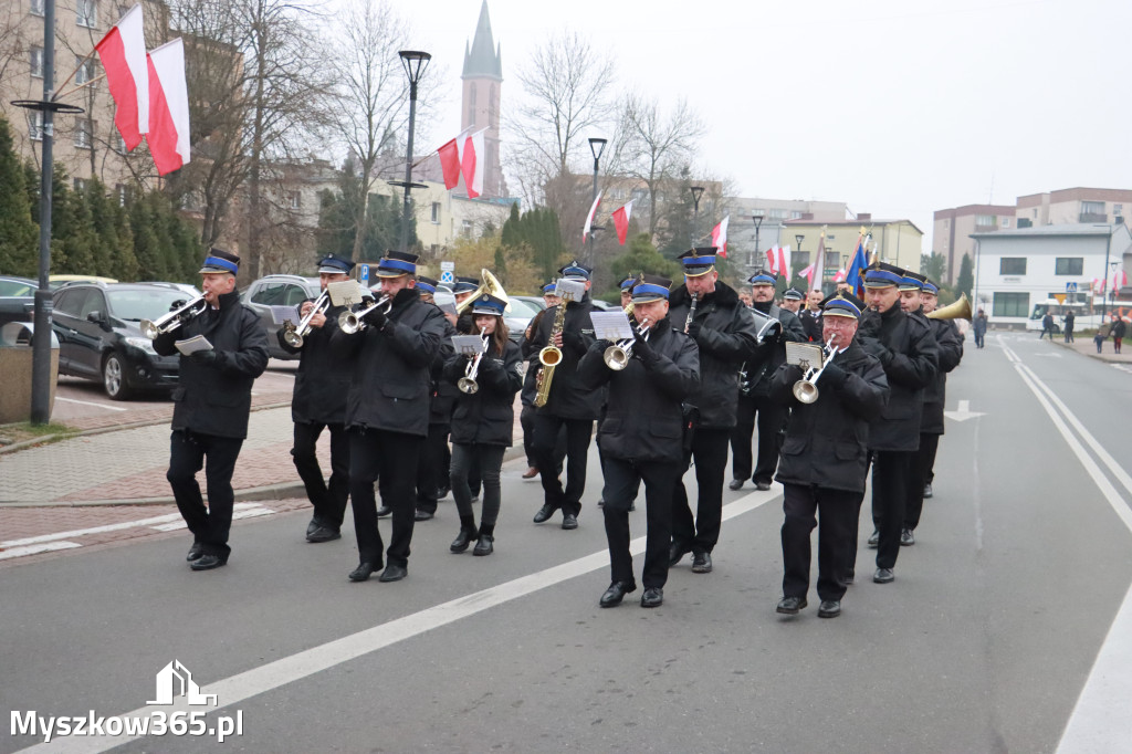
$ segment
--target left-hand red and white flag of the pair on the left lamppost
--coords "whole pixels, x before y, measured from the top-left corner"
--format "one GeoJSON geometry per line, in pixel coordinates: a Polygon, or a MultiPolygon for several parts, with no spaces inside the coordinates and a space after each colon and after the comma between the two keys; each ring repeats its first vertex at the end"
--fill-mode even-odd
{"type": "Polygon", "coordinates": [[[149,68],[144,31],[142,6],[134,6],[94,46],[117,105],[114,126],[126,148],[131,151],[149,130],[149,68]]]}

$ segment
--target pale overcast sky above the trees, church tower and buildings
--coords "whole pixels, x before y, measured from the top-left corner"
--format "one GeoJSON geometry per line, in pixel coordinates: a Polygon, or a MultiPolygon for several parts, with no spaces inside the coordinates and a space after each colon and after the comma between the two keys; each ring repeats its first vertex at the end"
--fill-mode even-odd
{"type": "MultiPolygon", "coordinates": [[[[464,44],[481,0],[392,1],[415,46],[446,74],[429,137],[447,139],[460,129],[464,44]]],[[[531,50],[576,29],[614,55],[618,91],[637,88],[662,104],[688,98],[707,123],[703,165],[740,196],[908,217],[924,231],[925,250],[935,209],[1011,205],[1074,186],[1132,188],[1130,0],[489,0],[488,8],[503,45],[501,119],[531,50]]]]}

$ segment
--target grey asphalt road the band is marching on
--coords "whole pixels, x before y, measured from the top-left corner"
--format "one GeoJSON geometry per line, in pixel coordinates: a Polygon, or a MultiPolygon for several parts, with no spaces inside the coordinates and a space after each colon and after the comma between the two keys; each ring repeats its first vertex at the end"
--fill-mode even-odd
{"type": "MultiPolygon", "coordinates": [[[[813,591],[797,618],[774,612],[781,496],[749,487],[727,492],[714,573],[685,559],[661,608],[637,593],[602,610],[597,459],[574,532],[531,523],[540,488],[520,460],[496,554],[448,554],[448,502],[395,584],[349,583],[352,533],[306,545],[301,513],[238,525],[211,573],[186,567],[188,539],[10,567],[0,706],[138,711],[175,659],[218,695],[183,709],[209,726],[239,711],[242,736],[120,751],[1126,751],[1132,669],[1113,658],[1132,632],[1106,636],[1132,610],[1132,379],[1029,335],[987,342],[950,380],[947,408],[980,415],[947,422],[918,543],[883,586],[861,546],[840,618],[818,619],[813,591]]],[[[643,508],[632,522],[643,537],[643,508]]],[[[866,504],[861,542],[871,529],[866,504]]]]}

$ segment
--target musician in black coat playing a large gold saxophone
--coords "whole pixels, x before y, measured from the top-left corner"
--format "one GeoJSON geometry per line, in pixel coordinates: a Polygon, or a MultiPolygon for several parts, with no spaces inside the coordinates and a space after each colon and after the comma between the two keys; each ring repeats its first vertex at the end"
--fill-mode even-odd
{"type": "MultiPolygon", "coordinates": [[[[577,529],[577,514],[582,511],[582,492],[585,491],[586,456],[593,435],[593,422],[601,413],[604,400],[601,391],[584,388],[577,379],[577,363],[593,344],[593,323],[590,312],[591,269],[572,262],[558,271],[563,279],[582,283],[585,293],[581,301],[566,301],[547,309],[542,322],[532,333],[528,345],[534,355],[529,369],[542,369],[539,352],[548,344],[561,351],[561,360],[555,367],[550,383],[550,396],[544,406],[534,414],[534,460],[542,481],[543,503],[534,514],[534,523],[543,523],[559,508],[563,512],[563,529],[577,529]],[[560,307],[566,307],[563,332],[552,336],[555,320],[560,307]],[[559,430],[566,428],[566,488],[556,473],[555,445],[559,430]]],[[[538,372],[535,372],[538,375],[538,372]]]]}

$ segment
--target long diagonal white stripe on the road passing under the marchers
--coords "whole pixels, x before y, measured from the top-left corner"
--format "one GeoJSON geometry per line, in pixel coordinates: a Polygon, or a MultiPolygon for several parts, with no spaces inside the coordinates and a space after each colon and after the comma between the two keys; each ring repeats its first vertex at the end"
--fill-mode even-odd
{"type": "MultiPolygon", "coordinates": [[[[781,497],[781,494],[772,491],[756,491],[739,498],[738,500],[723,506],[722,520],[727,521],[736,516],[754,511],[761,505],[770,503],[781,497]]],[[[638,537],[629,543],[629,549],[634,555],[644,552],[645,538],[638,537]]],[[[319,646],[298,652],[290,657],[281,658],[274,662],[261,665],[235,676],[215,682],[200,682],[209,694],[216,694],[223,706],[231,708],[234,704],[264,694],[272,689],[294,683],[316,672],[321,672],[335,666],[349,662],[354,658],[376,652],[406,639],[412,639],[434,628],[455,623],[461,618],[482,612],[488,608],[511,602],[521,597],[532,594],[537,591],[555,586],[565,581],[581,576],[600,568],[609,566],[609,552],[601,550],[586,555],[569,563],[539,571],[537,573],[521,576],[513,581],[505,582],[497,586],[491,586],[472,594],[457,597],[454,600],[437,605],[412,615],[406,615],[396,620],[374,626],[360,631],[349,636],[343,636],[319,646]]],[[[199,682],[199,679],[197,679],[199,682]]],[[[162,704],[144,706],[131,712],[123,712],[120,717],[149,717],[154,712],[163,712],[172,716],[174,712],[191,712],[185,696],[178,696],[173,704],[162,704]]],[[[115,746],[140,738],[140,736],[87,736],[87,737],[60,737],[50,744],[36,744],[24,752],[105,752],[115,746]]]]}

